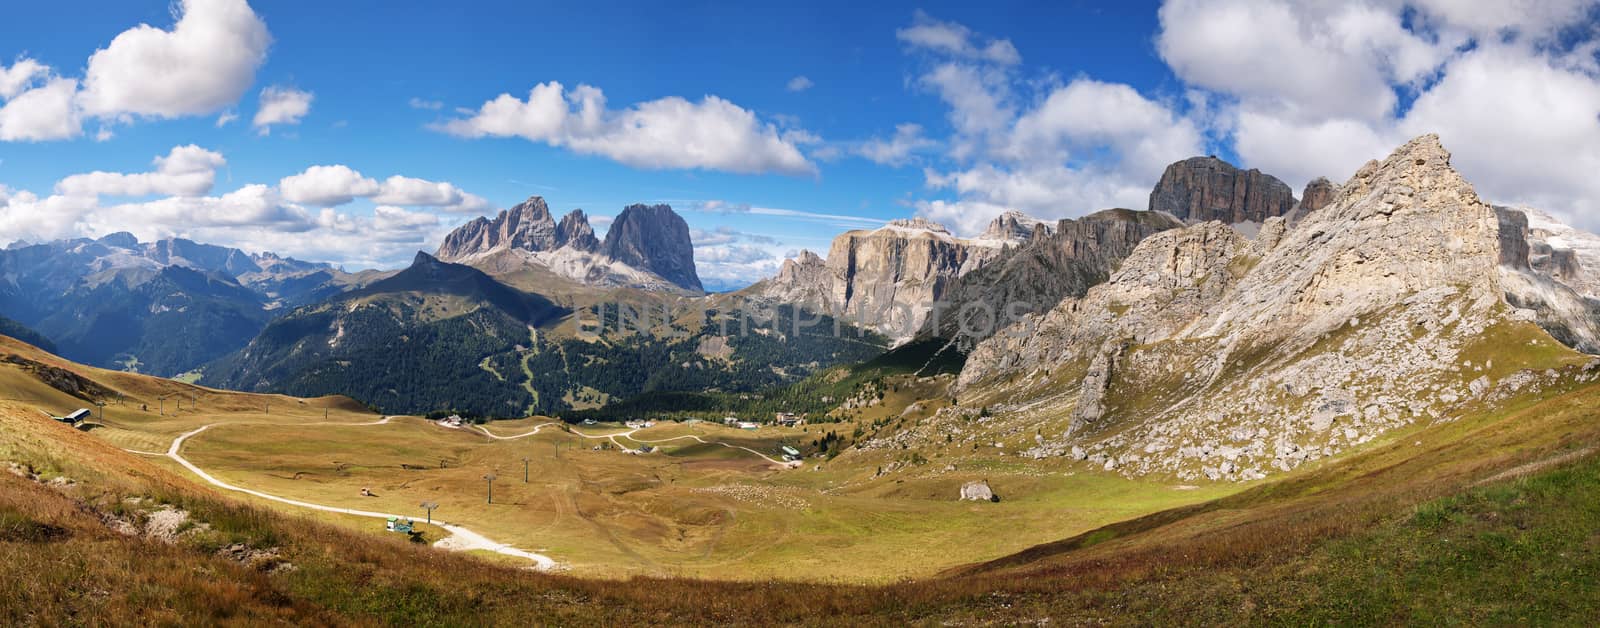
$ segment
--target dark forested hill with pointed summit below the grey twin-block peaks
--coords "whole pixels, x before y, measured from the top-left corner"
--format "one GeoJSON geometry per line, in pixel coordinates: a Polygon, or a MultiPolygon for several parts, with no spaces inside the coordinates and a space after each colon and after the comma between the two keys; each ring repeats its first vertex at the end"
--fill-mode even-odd
{"type": "Polygon", "coordinates": [[[418,253],[394,277],[274,320],[210,367],[205,381],[349,394],[386,412],[523,417],[653,391],[752,392],[888,348],[848,327],[835,336],[829,319],[795,332],[792,309],[739,333],[742,304],[725,296],[632,288],[557,296],[587,298],[589,306],[562,306],[477,268],[418,253]],[[648,332],[637,333],[618,308],[645,312],[648,332]]]}

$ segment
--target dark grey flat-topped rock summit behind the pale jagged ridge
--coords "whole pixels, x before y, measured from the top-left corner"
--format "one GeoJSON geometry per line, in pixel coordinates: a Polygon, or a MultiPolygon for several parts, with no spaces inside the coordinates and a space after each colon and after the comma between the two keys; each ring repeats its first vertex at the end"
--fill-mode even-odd
{"type": "Polygon", "coordinates": [[[1262,223],[1294,207],[1294,191],[1256,168],[1238,170],[1216,157],[1190,157],[1166,167],[1150,192],[1150,211],[1189,223],[1262,223]]]}

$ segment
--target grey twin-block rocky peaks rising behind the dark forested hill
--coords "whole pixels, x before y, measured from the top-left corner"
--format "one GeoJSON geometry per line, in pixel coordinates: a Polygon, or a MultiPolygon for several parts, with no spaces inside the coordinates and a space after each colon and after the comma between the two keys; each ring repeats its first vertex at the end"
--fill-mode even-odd
{"type": "Polygon", "coordinates": [[[438,258],[494,276],[533,264],[584,285],[702,292],[690,227],[667,205],[622,210],[600,242],[582,210],[555,223],[544,199],[531,197],[456,227],[438,258]]]}

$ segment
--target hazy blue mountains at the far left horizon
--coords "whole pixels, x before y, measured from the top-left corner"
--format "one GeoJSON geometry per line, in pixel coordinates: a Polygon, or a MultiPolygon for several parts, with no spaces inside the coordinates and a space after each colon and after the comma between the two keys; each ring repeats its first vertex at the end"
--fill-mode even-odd
{"type": "Polygon", "coordinates": [[[0,250],[0,314],[74,360],[178,375],[238,349],[282,308],[379,276],[110,234],[0,250]]]}

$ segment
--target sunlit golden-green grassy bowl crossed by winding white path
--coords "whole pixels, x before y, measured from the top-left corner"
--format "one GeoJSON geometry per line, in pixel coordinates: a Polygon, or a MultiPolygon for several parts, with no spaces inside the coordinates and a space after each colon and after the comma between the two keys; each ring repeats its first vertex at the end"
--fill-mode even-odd
{"type": "MultiPolygon", "coordinates": [[[[206,481],[290,514],[317,505],[421,521],[426,513],[418,505],[434,501],[438,519],[515,548],[510,554],[549,556],[586,577],[893,582],[1237,490],[1040,473],[994,460],[963,461],[965,473],[875,481],[875,468],[850,460],[792,468],[763,453],[806,434],[782,428],[563,428],[523,420],[446,429],[405,417],[299,423],[197,415],[192,421],[203,425],[178,436],[181,460],[157,463],[205,473],[206,481]],[[646,444],[656,450],[627,453],[646,444]],[[486,501],[485,474],[498,477],[494,503],[486,501]],[[960,484],[979,476],[1008,497],[957,501],[960,484]],[[995,525],[1013,532],[995,535],[995,525]],[[930,543],[949,550],[922,553],[930,543]],[[920,558],[906,561],[907,553],[920,558]]],[[[149,436],[128,428],[99,436],[118,444],[149,436]]],[[[381,522],[358,525],[381,529],[381,522]]]]}

